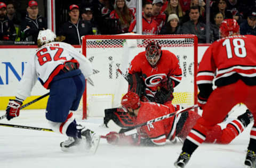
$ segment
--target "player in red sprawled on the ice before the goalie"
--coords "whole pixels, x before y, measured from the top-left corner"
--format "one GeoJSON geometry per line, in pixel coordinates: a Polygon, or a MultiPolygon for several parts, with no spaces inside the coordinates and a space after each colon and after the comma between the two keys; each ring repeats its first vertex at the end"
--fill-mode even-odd
{"type": "MultiPolygon", "coordinates": [[[[154,102],[141,102],[139,96],[132,92],[123,96],[121,104],[133,116],[130,120],[133,120],[136,125],[179,110],[174,106],[170,108],[154,102]]],[[[199,117],[196,112],[187,111],[143,126],[129,136],[125,136],[124,133],[109,132],[106,138],[109,144],[113,145],[165,145],[166,140],[175,142],[176,137],[184,140],[199,117]]],[[[252,114],[247,110],[236,120],[228,123],[223,130],[220,125],[214,125],[206,134],[206,142],[229,144],[239,133],[243,132],[251,119],[252,114]]]]}

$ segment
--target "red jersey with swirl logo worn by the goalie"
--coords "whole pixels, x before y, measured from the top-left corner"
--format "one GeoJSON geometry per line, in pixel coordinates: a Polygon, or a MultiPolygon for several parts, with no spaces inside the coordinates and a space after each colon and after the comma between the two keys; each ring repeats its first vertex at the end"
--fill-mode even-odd
{"type": "Polygon", "coordinates": [[[177,86],[182,78],[182,71],[178,58],[171,52],[163,50],[157,64],[153,67],[149,64],[146,52],[141,52],[133,58],[129,68],[129,73],[141,75],[146,86],[146,96],[155,97],[157,89],[161,86],[161,81],[170,78],[173,87],[177,86]]]}

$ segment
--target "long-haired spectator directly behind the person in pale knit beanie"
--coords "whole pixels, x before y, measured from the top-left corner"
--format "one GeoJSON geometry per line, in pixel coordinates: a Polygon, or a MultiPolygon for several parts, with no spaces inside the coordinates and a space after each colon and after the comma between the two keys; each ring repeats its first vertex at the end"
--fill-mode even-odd
{"type": "Polygon", "coordinates": [[[182,18],[186,13],[183,12],[179,1],[180,0],[170,0],[170,3],[168,4],[166,9],[166,13],[167,15],[170,15],[172,13],[177,14],[179,18],[179,23],[182,24],[182,18]]]}

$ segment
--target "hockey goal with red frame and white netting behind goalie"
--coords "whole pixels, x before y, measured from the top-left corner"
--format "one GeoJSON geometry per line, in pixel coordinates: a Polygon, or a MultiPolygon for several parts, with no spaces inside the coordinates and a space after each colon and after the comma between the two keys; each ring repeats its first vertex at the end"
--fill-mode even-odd
{"type": "Polygon", "coordinates": [[[87,116],[104,116],[105,108],[120,106],[128,83],[117,71],[124,74],[131,60],[145,51],[149,41],[156,41],[174,53],[182,69],[182,81],[174,88],[173,104],[190,106],[197,103],[197,37],[194,35],[99,35],[84,36],[82,52],[93,65],[93,75],[87,79],[81,103],[83,119],[87,116]]]}

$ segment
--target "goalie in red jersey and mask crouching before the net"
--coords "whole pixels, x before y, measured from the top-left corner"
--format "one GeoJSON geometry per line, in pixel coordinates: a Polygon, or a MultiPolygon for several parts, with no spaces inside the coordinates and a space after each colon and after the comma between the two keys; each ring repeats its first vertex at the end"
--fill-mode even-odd
{"type": "Polygon", "coordinates": [[[173,88],[179,85],[182,71],[173,53],[151,42],[145,52],[133,58],[127,78],[129,91],[137,93],[143,101],[172,106],[173,88]]]}

